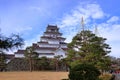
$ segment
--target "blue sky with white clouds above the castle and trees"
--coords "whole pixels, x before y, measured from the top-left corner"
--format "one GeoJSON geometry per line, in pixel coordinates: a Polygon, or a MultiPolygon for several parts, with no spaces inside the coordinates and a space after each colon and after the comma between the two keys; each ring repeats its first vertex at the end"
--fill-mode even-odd
{"type": "Polygon", "coordinates": [[[4,35],[19,33],[25,47],[36,43],[48,24],[58,25],[66,42],[85,28],[107,38],[111,56],[120,57],[119,0],[0,0],[0,28],[4,35]]]}

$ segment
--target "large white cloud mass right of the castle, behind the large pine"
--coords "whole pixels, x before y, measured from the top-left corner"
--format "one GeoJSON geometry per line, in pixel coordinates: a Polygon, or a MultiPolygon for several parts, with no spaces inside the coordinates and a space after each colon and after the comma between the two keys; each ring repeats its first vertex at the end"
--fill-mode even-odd
{"type": "MultiPolygon", "coordinates": [[[[66,42],[70,42],[74,35],[80,31],[81,17],[84,17],[86,25],[96,25],[97,20],[108,18],[109,14],[106,14],[101,9],[100,5],[96,3],[80,4],[77,8],[73,9],[70,14],[63,16],[59,22],[59,27],[65,33],[67,38],[66,42]],[[93,21],[93,22],[92,22],[93,21]],[[95,24],[91,24],[94,23],[95,24]]],[[[107,38],[107,43],[112,47],[110,55],[120,57],[120,18],[118,16],[112,16],[108,20],[104,20],[102,23],[98,23],[99,34],[107,38]],[[115,44],[115,42],[117,42],[115,44]]],[[[91,28],[91,27],[90,27],[91,28]]],[[[93,28],[92,28],[93,29],[93,28]]]]}

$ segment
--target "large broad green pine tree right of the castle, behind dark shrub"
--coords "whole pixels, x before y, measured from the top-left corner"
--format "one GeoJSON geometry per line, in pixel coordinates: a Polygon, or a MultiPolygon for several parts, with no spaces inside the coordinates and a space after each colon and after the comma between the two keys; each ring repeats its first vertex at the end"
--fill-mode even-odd
{"type": "Polygon", "coordinates": [[[106,38],[98,37],[91,31],[81,31],[68,44],[67,59],[69,63],[71,65],[89,63],[102,69],[104,65],[109,66],[108,53],[110,53],[111,48],[105,41],[106,38]]]}

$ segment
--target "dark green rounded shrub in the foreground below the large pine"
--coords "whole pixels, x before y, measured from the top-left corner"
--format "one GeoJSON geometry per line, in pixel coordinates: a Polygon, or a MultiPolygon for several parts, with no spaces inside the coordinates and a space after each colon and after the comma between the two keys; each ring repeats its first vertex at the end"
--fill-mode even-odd
{"type": "Polygon", "coordinates": [[[90,64],[78,64],[70,68],[70,80],[97,80],[100,75],[99,70],[90,64]]]}

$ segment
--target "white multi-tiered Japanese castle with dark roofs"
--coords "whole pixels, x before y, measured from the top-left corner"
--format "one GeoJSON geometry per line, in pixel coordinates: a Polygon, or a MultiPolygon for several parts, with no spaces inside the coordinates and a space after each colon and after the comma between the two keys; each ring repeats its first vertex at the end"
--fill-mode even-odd
{"type": "MultiPolygon", "coordinates": [[[[65,38],[62,37],[62,33],[59,32],[59,28],[54,25],[48,25],[43,36],[37,43],[33,43],[34,52],[38,53],[38,57],[54,58],[60,56],[66,57],[67,43],[64,42],[65,38]]],[[[18,50],[14,53],[15,58],[24,58],[25,50],[18,50]]]]}

